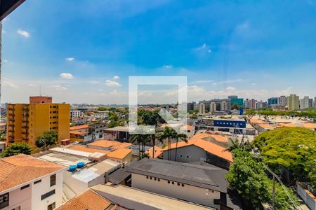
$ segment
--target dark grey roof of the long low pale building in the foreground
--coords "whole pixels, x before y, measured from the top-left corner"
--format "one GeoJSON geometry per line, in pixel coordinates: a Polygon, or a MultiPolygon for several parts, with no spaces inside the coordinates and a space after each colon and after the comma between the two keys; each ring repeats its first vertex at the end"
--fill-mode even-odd
{"type": "Polygon", "coordinates": [[[228,183],[225,180],[227,171],[218,167],[144,158],[135,167],[127,169],[126,172],[153,176],[223,193],[227,192],[228,183]]]}

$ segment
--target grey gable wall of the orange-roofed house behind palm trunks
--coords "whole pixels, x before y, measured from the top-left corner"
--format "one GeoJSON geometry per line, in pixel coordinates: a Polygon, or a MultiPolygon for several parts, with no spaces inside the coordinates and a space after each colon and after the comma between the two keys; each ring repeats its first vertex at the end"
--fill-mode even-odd
{"type": "MultiPolygon", "coordinates": [[[[171,159],[176,160],[176,149],[169,151],[171,153],[171,159]]],[[[164,151],[164,160],[168,160],[168,151],[164,151]]],[[[199,160],[206,160],[206,151],[194,145],[178,148],[177,151],[178,162],[197,162],[199,160]]]]}

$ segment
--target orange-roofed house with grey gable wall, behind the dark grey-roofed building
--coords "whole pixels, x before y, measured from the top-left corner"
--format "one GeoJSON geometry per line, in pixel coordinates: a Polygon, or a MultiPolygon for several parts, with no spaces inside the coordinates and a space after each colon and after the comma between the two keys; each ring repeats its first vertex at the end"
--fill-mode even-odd
{"type": "Polygon", "coordinates": [[[226,141],[223,137],[216,137],[214,134],[195,134],[187,143],[179,141],[171,144],[171,149],[163,148],[164,160],[172,160],[178,162],[197,162],[205,161],[212,165],[228,169],[232,163],[232,153],[226,151],[226,147],[220,141],[226,141]],[[216,142],[217,141],[219,142],[216,142]],[[177,153],[176,153],[177,147],[177,153]]]}

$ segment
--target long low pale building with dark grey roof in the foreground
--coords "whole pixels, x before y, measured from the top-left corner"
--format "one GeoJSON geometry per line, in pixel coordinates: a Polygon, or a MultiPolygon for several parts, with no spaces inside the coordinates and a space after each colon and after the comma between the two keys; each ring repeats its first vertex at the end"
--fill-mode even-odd
{"type": "Polygon", "coordinates": [[[127,172],[132,188],[215,209],[239,209],[228,195],[227,171],[213,165],[144,158],[127,172]]]}

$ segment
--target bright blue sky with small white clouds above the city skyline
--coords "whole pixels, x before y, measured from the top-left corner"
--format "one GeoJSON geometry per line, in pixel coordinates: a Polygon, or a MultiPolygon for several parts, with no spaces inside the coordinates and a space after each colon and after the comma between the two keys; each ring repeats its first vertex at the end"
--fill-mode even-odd
{"type": "Polygon", "coordinates": [[[187,76],[195,101],[316,96],[312,0],[27,0],[3,25],[2,102],[41,86],[55,102],[127,103],[129,76],[187,76]]]}

